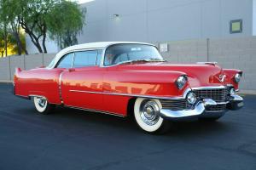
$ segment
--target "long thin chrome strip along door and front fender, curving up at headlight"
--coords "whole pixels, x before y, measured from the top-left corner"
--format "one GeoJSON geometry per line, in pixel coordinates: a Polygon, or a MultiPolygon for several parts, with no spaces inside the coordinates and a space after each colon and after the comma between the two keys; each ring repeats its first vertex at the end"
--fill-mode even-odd
{"type": "Polygon", "coordinates": [[[86,94],[107,94],[107,95],[120,95],[120,96],[131,96],[131,97],[140,97],[140,98],[151,98],[151,99],[186,99],[187,94],[191,91],[190,88],[187,88],[182,97],[160,97],[153,95],[142,95],[142,94],[119,94],[119,93],[109,93],[109,92],[91,92],[86,90],[69,90],[70,92],[86,93],[86,94]]]}

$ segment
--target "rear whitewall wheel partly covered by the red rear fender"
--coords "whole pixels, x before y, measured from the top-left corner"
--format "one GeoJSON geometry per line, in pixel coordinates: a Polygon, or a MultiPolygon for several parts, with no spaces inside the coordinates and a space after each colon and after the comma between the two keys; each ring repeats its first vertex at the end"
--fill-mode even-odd
{"type": "Polygon", "coordinates": [[[33,97],[33,102],[36,110],[41,114],[47,115],[54,109],[54,105],[50,105],[44,97],[33,97]]]}

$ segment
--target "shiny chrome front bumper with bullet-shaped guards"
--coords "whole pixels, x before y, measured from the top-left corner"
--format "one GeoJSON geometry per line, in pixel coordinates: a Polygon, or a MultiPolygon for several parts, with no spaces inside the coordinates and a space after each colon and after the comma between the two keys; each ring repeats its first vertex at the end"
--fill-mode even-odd
{"type": "Polygon", "coordinates": [[[235,94],[230,96],[230,100],[226,103],[226,110],[224,111],[207,111],[208,107],[218,105],[212,99],[203,99],[198,101],[193,109],[183,110],[183,111],[172,111],[169,109],[161,109],[160,116],[165,119],[170,120],[186,120],[188,118],[198,118],[198,117],[214,117],[222,116],[228,110],[236,111],[241,109],[243,106],[243,99],[241,96],[235,94]]]}

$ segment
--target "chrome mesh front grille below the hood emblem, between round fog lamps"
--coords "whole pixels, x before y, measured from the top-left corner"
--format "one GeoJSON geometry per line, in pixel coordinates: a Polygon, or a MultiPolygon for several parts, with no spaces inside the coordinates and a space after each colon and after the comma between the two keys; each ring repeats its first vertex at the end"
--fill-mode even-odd
{"type": "Polygon", "coordinates": [[[201,99],[213,99],[216,102],[224,102],[228,96],[228,88],[194,89],[196,97],[201,99]]]}

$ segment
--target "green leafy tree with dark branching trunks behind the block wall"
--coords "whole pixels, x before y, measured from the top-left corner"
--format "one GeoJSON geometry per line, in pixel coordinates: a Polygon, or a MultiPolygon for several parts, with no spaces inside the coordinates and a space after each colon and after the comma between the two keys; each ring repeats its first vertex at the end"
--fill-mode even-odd
{"type": "Polygon", "coordinates": [[[21,26],[39,53],[47,53],[47,35],[63,47],[76,43],[84,24],[83,10],[67,0],[0,0],[0,9],[0,19],[6,19],[13,28],[19,47],[21,26]]]}

